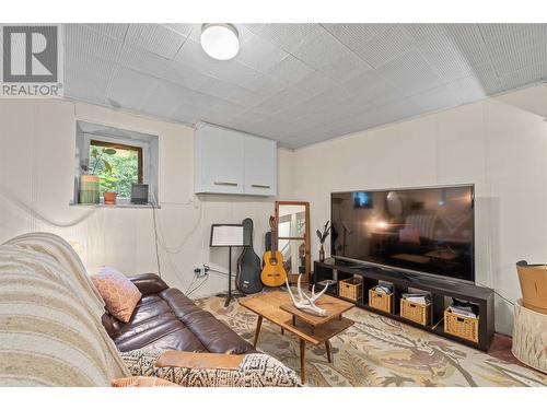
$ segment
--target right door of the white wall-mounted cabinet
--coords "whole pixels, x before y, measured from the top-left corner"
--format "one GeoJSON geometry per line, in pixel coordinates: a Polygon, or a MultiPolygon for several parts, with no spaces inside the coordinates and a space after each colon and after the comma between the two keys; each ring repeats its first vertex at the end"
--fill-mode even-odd
{"type": "Polygon", "coordinates": [[[245,137],[245,194],[277,194],[277,144],[264,138],[245,137]]]}

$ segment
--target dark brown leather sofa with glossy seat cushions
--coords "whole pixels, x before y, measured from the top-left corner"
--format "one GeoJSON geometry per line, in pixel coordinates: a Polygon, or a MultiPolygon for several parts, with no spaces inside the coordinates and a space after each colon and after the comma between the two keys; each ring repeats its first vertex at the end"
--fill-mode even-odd
{"type": "Polygon", "coordinates": [[[121,352],[167,349],[188,352],[256,352],[253,347],[209,312],[197,307],[178,289],[153,273],[129,278],[142,298],[129,320],[118,321],[108,312],[103,325],[121,352]]]}

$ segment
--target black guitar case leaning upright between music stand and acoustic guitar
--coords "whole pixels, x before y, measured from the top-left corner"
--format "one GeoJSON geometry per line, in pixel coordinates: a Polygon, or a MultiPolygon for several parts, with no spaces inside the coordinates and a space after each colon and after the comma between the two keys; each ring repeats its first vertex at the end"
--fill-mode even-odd
{"type": "Polygon", "coordinates": [[[253,249],[253,220],[246,218],[242,224],[244,242],[249,245],[245,246],[237,259],[235,285],[240,292],[252,294],[263,290],[263,281],[260,280],[261,261],[253,249]]]}

